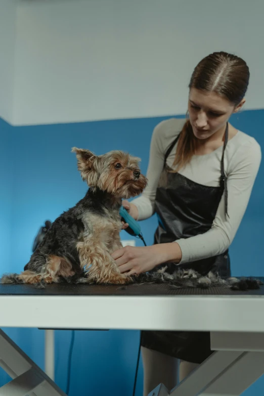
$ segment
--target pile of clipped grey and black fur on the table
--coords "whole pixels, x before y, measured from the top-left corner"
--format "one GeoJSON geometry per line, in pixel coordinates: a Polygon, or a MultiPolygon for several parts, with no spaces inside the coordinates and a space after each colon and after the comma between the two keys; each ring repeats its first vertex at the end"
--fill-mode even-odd
{"type": "Polygon", "coordinates": [[[209,287],[221,286],[230,288],[232,290],[255,290],[259,289],[263,283],[253,278],[221,278],[218,275],[209,272],[207,275],[202,276],[194,270],[179,270],[173,274],[168,274],[166,268],[154,273],[140,274],[134,276],[135,283],[167,283],[171,288],[202,288],[208,289],[209,287]]]}

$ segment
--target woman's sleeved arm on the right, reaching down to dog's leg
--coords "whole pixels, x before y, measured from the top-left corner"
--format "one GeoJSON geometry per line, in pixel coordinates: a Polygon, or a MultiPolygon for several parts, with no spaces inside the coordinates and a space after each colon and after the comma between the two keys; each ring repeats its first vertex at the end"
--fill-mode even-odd
{"type": "Polygon", "coordinates": [[[190,238],[147,247],[126,246],[113,252],[120,271],[147,272],[163,262],[185,263],[224,253],[233,241],[248,205],[261,161],[260,146],[253,142],[236,153],[235,165],[228,175],[228,214],[224,194],[209,231],[190,238]]]}

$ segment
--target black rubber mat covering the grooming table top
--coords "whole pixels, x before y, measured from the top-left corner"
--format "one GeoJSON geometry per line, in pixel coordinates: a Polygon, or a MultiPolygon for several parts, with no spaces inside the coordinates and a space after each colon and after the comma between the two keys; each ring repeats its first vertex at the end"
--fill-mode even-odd
{"type": "MultiPolygon", "coordinates": [[[[264,281],[264,278],[258,277],[264,281]]],[[[234,291],[224,287],[210,287],[208,289],[185,288],[175,289],[167,284],[142,285],[74,285],[52,284],[45,289],[38,289],[31,285],[0,284],[0,299],[6,295],[83,295],[83,296],[155,296],[155,295],[255,295],[264,296],[264,286],[258,290],[234,291]]]]}

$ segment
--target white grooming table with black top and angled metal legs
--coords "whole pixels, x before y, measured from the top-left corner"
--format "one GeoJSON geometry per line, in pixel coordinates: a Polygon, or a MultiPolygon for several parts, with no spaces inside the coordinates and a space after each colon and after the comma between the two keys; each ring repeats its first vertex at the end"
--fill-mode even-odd
{"type": "Polygon", "coordinates": [[[65,396],[50,378],[53,329],[210,331],[215,352],[177,387],[160,384],[151,396],[237,396],[264,373],[264,286],[0,285],[0,299],[0,327],[46,329],[46,373],[0,330],[0,366],[14,378],[0,396],[65,396]]]}

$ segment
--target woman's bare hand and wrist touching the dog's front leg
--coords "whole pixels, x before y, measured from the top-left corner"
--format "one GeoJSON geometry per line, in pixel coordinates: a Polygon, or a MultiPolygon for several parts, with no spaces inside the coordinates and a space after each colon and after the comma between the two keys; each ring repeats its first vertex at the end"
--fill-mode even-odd
{"type": "Polygon", "coordinates": [[[115,250],[112,257],[121,273],[141,274],[153,270],[163,262],[180,262],[181,248],[178,243],[162,243],[152,246],[125,246],[115,250]]]}

